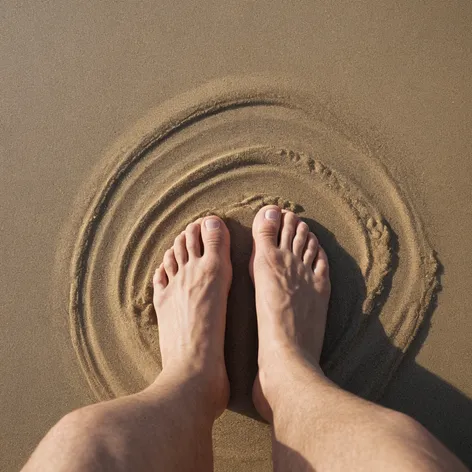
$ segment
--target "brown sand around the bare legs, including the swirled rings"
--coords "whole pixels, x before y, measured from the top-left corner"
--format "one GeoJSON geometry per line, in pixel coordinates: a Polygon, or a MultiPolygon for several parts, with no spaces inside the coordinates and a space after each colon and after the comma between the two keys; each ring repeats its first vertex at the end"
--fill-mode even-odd
{"type": "Polygon", "coordinates": [[[224,24],[242,14],[239,29],[218,36],[203,12],[195,29],[173,5],[11,6],[2,20],[2,470],[65,412],[153,380],[151,274],[208,212],[230,227],[235,274],[216,468],[270,470],[269,430],[250,400],[247,273],[251,220],[269,202],[327,249],[328,375],[415,416],[471,463],[470,9],[368,2],[361,19],[341,2],[296,15],[261,5],[250,19],[248,6],[207,6],[224,24]],[[153,14],[174,29],[144,21],[153,14]],[[198,34],[176,41],[177,31],[198,34]],[[256,37],[279,55],[246,44],[256,37]]]}

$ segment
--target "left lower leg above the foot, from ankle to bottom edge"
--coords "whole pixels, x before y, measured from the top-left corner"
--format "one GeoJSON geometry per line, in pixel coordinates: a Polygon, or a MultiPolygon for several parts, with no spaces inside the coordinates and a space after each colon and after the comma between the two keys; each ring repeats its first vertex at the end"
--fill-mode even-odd
{"type": "Polygon", "coordinates": [[[143,392],[74,411],[48,433],[24,470],[185,471],[196,464],[212,470],[216,412],[197,393],[201,385],[197,372],[163,371],[143,392]]]}

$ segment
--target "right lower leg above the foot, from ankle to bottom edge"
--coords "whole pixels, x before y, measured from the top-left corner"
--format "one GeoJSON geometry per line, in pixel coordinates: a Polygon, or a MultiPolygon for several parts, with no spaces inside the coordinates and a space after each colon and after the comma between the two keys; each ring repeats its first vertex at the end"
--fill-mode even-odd
{"type": "Polygon", "coordinates": [[[276,471],[466,470],[412,418],[341,390],[299,353],[283,356],[269,374],[280,382],[265,385],[276,471]]]}

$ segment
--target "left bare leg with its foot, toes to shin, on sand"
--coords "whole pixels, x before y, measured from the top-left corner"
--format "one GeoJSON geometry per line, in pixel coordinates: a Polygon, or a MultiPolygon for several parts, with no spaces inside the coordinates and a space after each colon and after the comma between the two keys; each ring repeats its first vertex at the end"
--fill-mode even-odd
{"type": "Polygon", "coordinates": [[[212,470],[211,430],[229,397],[223,344],[231,262],[223,221],[190,224],[153,282],[161,374],[142,392],[68,414],[25,471],[212,470]]]}

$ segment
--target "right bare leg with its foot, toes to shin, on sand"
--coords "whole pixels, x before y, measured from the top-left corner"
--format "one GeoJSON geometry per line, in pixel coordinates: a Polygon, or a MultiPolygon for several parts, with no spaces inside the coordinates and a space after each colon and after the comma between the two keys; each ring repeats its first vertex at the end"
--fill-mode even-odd
{"type": "Polygon", "coordinates": [[[319,358],[330,296],[328,259],[291,212],[253,224],[259,373],[253,399],[272,424],[276,471],[462,471],[419,423],[341,390],[319,358]]]}

